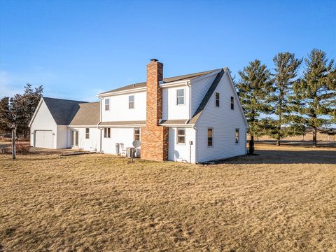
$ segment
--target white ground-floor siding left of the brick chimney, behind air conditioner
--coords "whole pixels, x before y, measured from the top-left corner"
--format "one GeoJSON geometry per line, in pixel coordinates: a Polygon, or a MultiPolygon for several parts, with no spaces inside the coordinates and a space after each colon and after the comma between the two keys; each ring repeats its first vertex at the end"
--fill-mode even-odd
{"type": "MultiPolygon", "coordinates": [[[[111,128],[111,137],[104,138],[104,131],[102,132],[102,151],[104,153],[116,153],[116,144],[124,144],[124,148],[133,147],[134,141],[134,128],[111,128]]],[[[141,135],[141,134],[140,134],[141,135]]],[[[120,148],[121,151],[121,148],[120,148]]],[[[139,151],[137,155],[139,155],[139,151]]]]}

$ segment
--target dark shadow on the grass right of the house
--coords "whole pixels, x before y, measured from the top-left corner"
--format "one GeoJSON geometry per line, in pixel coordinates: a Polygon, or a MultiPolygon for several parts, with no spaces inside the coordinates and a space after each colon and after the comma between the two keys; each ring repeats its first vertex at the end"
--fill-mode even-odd
{"type": "Polygon", "coordinates": [[[335,151],[255,151],[258,155],[244,155],[227,160],[218,160],[216,164],[331,164],[336,165],[335,151]]]}

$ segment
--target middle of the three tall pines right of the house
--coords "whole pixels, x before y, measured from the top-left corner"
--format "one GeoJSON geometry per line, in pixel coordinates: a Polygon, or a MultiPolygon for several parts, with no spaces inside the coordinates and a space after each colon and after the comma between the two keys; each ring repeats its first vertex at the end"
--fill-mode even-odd
{"type": "Polygon", "coordinates": [[[289,97],[292,86],[297,77],[297,71],[302,63],[302,59],[295,58],[294,53],[279,52],[274,58],[274,76],[272,106],[275,118],[269,120],[269,135],[276,139],[276,145],[280,145],[280,140],[288,135],[288,128],[283,127],[290,123],[291,106],[289,97]]]}

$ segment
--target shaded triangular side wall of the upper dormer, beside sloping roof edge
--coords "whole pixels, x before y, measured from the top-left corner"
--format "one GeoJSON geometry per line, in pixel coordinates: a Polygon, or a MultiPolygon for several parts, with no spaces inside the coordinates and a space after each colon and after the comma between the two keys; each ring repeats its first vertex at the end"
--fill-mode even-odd
{"type": "Polygon", "coordinates": [[[207,94],[209,87],[214,82],[217,74],[209,76],[207,78],[202,78],[198,81],[192,81],[191,83],[191,116],[194,115],[198,106],[200,106],[204,95],[207,94]]]}

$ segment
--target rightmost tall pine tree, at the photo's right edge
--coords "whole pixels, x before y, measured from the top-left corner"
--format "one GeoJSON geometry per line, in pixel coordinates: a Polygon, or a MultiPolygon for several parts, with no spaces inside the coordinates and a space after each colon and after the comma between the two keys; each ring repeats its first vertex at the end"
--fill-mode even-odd
{"type": "Polygon", "coordinates": [[[303,77],[293,85],[298,115],[304,125],[313,130],[313,146],[317,146],[317,130],[335,116],[336,78],[333,59],[329,61],[322,50],[311,50],[304,59],[303,77]]]}

